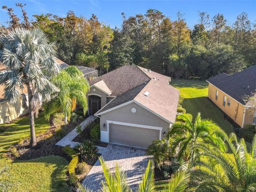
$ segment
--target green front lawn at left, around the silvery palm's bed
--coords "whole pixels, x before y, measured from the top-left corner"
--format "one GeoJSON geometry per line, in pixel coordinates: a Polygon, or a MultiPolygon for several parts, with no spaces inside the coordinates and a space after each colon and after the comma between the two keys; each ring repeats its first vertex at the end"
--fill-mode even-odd
{"type": "MultiPolygon", "coordinates": [[[[12,124],[1,124],[0,133],[0,170],[7,167],[6,174],[0,175],[0,183],[9,181],[8,191],[69,191],[66,184],[68,161],[59,156],[46,156],[30,161],[15,161],[5,157],[7,149],[14,143],[29,137],[29,118],[22,117],[12,124]]],[[[35,120],[36,134],[49,129],[43,114],[35,120]]],[[[0,185],[0,191],[1,185],[0,185]]]]}

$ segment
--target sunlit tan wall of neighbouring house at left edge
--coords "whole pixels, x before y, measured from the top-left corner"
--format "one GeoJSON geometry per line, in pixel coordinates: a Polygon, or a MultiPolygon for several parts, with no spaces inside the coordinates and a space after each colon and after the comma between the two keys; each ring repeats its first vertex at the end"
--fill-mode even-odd
{"type": "Polygon", "coordinates": [[[22,108],[22,98],[19,102],[11,105],[9,102],[0,103],[0,124],[5,123],[5,117],[9,116],[10,120],[18,118],[28,113],[28,109],[22,108]]]}

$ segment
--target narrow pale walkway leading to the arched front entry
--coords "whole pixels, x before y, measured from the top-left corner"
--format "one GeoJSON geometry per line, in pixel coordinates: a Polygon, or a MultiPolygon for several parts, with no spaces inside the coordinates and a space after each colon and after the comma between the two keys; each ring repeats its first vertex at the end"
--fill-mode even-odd
{"type": "MultiPolygon", "coordinates": [[[[92,123],[97,117],[96,116],[89,116],[86,118],[80,125],[82,127],[82,131],[90,124],[92,123]]],[[[56,143],[58,146],[65,147],[69,145],[71,148],[74,148],[75,146],[78,145],[78,142],[72,141],[73,139],[76,138],[78,133],[76,132],[76,127],[72,131],[70,131],[65,137],[63,137],[60,141],[56,143]]],[[[102,147],[103,148],[103,147],[102,147]]],[[[101,151],[101,148],[99,148],[99,151],[101,151]]]]}

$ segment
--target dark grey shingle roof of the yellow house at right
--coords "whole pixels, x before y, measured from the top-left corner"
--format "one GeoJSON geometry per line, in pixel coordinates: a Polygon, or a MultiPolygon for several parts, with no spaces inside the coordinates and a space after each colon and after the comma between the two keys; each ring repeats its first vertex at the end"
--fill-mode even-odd
{"type": "Polygon", "coordinates": [[[222,73],[207,79],[207,82],[246,105],[245,98],[256,92],[256,66],[251,66],[233,75],[222,73]]]}

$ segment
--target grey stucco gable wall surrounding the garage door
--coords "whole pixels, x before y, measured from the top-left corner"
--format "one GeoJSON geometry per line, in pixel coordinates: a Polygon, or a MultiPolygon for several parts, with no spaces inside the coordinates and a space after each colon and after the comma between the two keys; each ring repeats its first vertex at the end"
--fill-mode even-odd
{"type": "Polygon", "coordinates": [[[107,125],[107,120],[163,127],[162,138],[163,132],[167,133],[170,129],[170,123],[167,123],[162,118],[154,115],[153,113],[150,113],[150,111],[140,107],[136,103],[130,103],[124,107],[115,109],[106,114],[102,114],[100,119],[101,131],[107,131],[107,126],[105,128],[103,127],[104,123],[107,125]],[[132,113],[131,108],[133,107],[137,109],[136,113],[132,113]]]}

